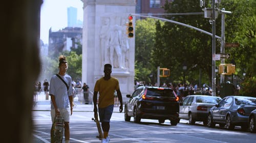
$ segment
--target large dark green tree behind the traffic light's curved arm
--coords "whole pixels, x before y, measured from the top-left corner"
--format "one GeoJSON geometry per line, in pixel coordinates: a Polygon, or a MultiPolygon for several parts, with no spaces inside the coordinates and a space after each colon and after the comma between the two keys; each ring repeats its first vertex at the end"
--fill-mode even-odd
{"type": "MultiPolygon", "coordinates": [[[[164,9],[166,13],[202,11],[199,1],[196,0],[166,3],[164,9]]],[[[211,29],[208,19],[203,18],[202,15],[171,15],[165,18],[208,32],[211,29]]],[[[170,80],[179,82],[188,80],[188,77],[198,74],[199,69],[202,69],[202,74],[208,77],[209,83],[211,81],[211,37],[192,28],[170,22],[164,22],[164,25],[157,24],[156,28],[156,45],[151,54],[152,63],[160,67],[163,64],[166,65],[171,71],[170,80]],[[187,69],[182,70],[183,66],[187,69]]]]}

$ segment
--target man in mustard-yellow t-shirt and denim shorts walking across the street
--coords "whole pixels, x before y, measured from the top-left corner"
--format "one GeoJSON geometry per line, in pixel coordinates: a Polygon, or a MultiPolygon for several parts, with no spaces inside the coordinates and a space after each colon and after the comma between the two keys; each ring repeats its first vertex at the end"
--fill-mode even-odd
{"type": "MultiPolygon", "coordinates": [[[[117,97],[120,102],[119,112],[123,110],[122,95],[119,89],[119,81],[117,78],[111,76],[112,65],[104,65],[104,76],[98,79],[94,86],[93,93],[93,104],[94,104],[94,115],[97,115],[99,111],[99,120],[103,130],[103,138],[101,142],[109,142],[109,130],[110,130],[110,119],[114,109],[114,92],[116,90],[117,97]],[[99,92],[99,102],[97,108],[97,95],[99,92]]],[[[96,116],[94,116],[96,118],[96,116]]]]}

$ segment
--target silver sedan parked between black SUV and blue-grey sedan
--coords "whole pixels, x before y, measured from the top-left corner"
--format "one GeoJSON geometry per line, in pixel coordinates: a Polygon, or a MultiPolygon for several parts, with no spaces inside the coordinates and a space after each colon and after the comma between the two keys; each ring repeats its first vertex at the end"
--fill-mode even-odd
{"type": "Polygon", "coordinates": [[[221,101],[218,96],[188,95],[180,102],[179,119],[188,120],[189,124],[203,121],[207,125],[208,112],[221,101]]]}

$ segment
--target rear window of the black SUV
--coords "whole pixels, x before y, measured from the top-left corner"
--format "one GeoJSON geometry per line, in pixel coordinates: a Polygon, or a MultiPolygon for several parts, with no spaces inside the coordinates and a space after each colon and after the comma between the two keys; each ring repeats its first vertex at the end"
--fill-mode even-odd
{"type": "Polygon", "coordinates": [[[173,90],[170,89],[147,89],[146,91],[147,96],[161,96],[161,97],[175,97],[173,90]]]}

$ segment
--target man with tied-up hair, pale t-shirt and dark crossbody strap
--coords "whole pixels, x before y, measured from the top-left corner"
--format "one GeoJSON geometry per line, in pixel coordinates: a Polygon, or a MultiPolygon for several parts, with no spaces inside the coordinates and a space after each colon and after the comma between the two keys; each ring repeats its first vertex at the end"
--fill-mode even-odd
{"type": "MultiPolygon", "coordinates": [[[[49,95],[51,96],[51,118],[54,123],[55,116],[64,118],[65,142],[69,143],[70,127],[69,121],[72,115],[72,78],[66,74],[68,63],[66,56],[59,56],[59,73],[50,80],[49,95]],[[69,105],[70,104],[70,105],[69,105]]],[[[54,126],[51,128],[51,142],[53,141],[54,126]]]]}

